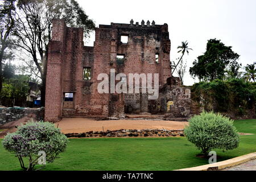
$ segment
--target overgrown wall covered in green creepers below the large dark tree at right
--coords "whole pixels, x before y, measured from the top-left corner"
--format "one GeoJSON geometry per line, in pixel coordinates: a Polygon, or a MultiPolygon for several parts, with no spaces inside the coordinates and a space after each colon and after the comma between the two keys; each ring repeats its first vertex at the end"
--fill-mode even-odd
{"type": "Polygon", "coordinates": [[[204,110],[245,115],[255,110],[256,83],[242,78],[199,82],[191,87],[192,100],[204,110]]]}

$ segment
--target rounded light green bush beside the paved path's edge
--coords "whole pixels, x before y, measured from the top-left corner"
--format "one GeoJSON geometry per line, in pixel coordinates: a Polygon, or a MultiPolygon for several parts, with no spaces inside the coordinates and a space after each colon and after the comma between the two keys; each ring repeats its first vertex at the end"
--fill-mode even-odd
{"type": "Polygon", "coordinates": [[[204,111],[189,119],[189,126],[185,127],[184,134],[204,155],[217,148],[233,150],[240,142],[233,120],[213,112],[204,111]]]}

